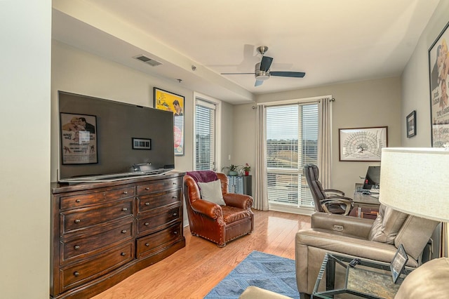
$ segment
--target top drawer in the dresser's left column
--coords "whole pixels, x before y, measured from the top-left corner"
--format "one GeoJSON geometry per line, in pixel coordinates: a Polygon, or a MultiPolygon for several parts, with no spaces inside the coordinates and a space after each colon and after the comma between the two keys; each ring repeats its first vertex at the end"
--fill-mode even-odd
{"type": "Polygon", "coordinates": [[[135,187],[126,187],[115,190],[105,190],[102,192],[92,192],[69,197],[61,197],[60,208],[66,210],[69,208],[79,208],[90,204],[100,204],[105,201],[114,201],[117,199],[126,199],[134,197],[135,187]]]}

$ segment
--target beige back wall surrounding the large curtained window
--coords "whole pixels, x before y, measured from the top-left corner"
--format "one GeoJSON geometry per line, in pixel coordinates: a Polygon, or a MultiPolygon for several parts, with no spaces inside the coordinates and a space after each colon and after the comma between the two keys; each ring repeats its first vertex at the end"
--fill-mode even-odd
{"type": "MultiPolygon", "coordinates": [[[[370,165],[380,162],[339,161],[338,129],[388,126],[388,145],[401,142],[401,81],[399,78],[377,79],[258,95],[257,102],[311,98],[333,95],[333,170],[332,187],[349,197],[354,184],[363,182],[370,165]]],[[[234,106],[234,164],[255,164],[255,110],[253,105],[234,106]],[[242,150],[242,149],[245,150],[242,150]]],[[[253,179],[254,180],[254,179],[253,179]]],[[[253,184],[254,185],[254,184],[253,184]]]]}

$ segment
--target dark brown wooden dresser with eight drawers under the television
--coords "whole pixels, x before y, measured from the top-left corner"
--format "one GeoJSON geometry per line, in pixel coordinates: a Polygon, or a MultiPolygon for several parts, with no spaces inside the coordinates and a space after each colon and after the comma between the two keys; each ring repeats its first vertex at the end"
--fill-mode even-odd
{"type": "Polygon", "coordinates": [[[53,183],[52,298],[89,298],[185,247],[182,177],[53,183]]]}

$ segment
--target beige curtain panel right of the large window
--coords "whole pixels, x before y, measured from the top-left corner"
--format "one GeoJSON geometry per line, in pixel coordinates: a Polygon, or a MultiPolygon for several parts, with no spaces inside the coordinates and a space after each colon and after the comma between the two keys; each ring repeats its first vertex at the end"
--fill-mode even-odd
{"type": "Polygon", "coordinates": [[[324,189],[332,186],[332,102],[333,98],[322,98],[319,105],[318,168],[324,189]]]}

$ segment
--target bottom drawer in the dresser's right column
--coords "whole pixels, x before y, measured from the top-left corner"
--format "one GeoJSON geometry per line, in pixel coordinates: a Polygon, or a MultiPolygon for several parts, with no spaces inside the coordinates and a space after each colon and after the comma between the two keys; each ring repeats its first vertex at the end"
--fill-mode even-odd
{"type": "Polygon", "coordinates": [[[180,222],[172,225],[166,230],[150,234],[147,237],[142,237],[137,240],[137,254],[136,257],[140,258],[144,255],[149,255],[160,251],[165,248],[170,242],[176,241],[176,239],[182,238],[182,225],[180,222]]]}

